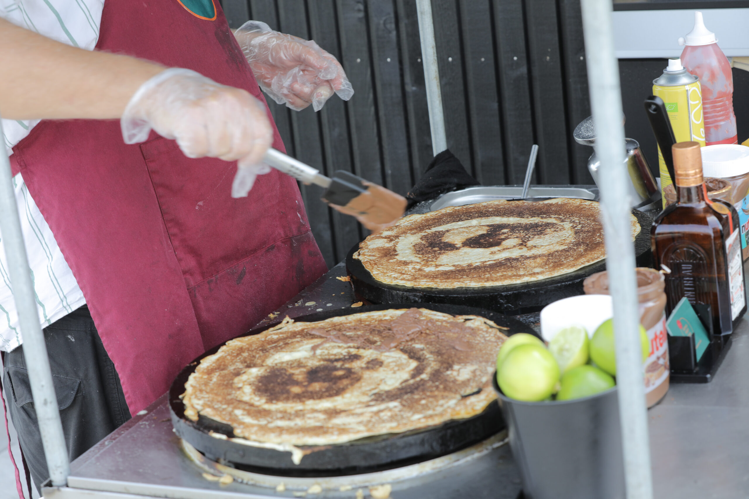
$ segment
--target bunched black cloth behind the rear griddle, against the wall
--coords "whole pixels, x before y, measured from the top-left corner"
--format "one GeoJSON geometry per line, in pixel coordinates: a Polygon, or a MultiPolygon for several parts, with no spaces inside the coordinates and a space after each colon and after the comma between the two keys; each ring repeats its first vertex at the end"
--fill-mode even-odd
{"type": "Polygon", "coordinates": [[[450,150],[443,150],[434,156],[426,167],[425,174],[419,182],[408,192],[408,206],[422,201],[437,198],[446,192],[463,189],[464,187],[479,186],[481,183],[463,168],[460,160],[450,150]]]}

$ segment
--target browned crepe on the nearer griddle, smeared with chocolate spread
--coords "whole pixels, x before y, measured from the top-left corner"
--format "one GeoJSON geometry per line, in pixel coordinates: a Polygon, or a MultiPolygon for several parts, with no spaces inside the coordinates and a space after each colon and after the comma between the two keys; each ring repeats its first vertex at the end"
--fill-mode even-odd
{"type": "Polygon", "coordinates": [[[204,358],[185,385],[185,415],[227,423],[252,442],[291,445],[471,417],[495,398],[491,374],[505,339],[488,319],[416,308],[287,318],[204,358]]]}

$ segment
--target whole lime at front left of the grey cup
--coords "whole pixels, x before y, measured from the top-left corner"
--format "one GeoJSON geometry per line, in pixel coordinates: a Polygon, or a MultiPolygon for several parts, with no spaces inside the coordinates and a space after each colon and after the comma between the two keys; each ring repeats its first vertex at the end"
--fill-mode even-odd
{"type": "Polygon", "coordinates": [[[560,379],[560,368],[554,355],[543,345],[518,345],[497,371],[497,383],[503,393],[524,402],[539,402],[554,392],[560,379]]]}

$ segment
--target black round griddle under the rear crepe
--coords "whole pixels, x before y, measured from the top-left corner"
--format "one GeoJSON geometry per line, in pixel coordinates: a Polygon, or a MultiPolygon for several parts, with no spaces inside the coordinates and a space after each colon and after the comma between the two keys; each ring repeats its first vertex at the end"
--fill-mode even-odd
{"type": "MultiPolygon", "coordinates": [[[[634,239],[637,266],[649,267],[652,265],[650,227],[653,219],[637,209],[633,209],[632,214],[637,217],[641,227],[640,233],[634,239]]],[[[520,315],[539,312],[553,301],[583,294],[585,278],[595,272],[606,270],[606,260],[601,260],[574,272],[521,284],[452,289],[417,288],[384,284],[375,280],[361,261],[354,258],[354,253],[358,249],[357,243],[346,255],[346,270],[351,277],[351,285],[354,287],[357,298],[374,304],[419,302],[470,305],[508,315],[520,315]]]]}

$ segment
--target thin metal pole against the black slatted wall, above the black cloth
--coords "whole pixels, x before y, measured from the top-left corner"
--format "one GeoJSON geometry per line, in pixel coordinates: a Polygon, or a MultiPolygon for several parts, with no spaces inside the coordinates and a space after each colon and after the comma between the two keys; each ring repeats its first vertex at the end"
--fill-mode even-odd
{"type": "Polygon", "coordinates": [[[416,0],[416,12],[419,15],[419,38],[422,44],[426,100],[429,107],[431,150],[434,156],[437,156],[438,153],[447,149],[447,137],[445,135],[445,115],[442,108],[442,91],[440,90],[440,67],[437,64],[437,46],[434,43],[431,0],[416,0]]]}

